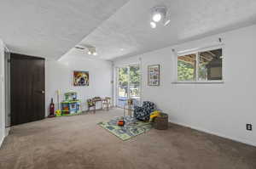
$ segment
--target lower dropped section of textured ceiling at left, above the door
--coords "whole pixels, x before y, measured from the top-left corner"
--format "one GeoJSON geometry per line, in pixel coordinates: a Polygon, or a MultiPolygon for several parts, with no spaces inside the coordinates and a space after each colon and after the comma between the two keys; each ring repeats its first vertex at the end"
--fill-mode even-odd
{"type": "Polygon", "coordinates": [[[1,0],[0,38],[20,54],[59,58],[128,0],[1,0]]]}

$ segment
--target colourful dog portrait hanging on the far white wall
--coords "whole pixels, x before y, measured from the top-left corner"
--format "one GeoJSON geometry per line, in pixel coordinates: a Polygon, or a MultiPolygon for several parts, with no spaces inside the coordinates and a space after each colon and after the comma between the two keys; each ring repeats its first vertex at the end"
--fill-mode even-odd
{"type": "Polygon", "coordinates": [[[73,86],[89,86],[89,71],[73,71],[73,86]]]}

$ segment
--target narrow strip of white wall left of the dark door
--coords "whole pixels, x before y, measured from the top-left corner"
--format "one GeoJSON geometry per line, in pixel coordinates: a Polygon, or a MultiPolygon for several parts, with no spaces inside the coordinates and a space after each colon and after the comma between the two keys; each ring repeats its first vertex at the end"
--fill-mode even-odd
{"type": "Polygon", "coordinates": [[[0,146],[5,137],[4,48],[0,39],[0,146]]]}

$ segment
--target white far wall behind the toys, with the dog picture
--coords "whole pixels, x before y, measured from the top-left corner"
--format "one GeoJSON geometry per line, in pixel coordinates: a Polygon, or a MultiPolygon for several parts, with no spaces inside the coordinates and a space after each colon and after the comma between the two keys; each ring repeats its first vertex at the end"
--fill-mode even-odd
{"type": "Polygon", "coordinates": [[[78,97],[82,100],[82,110],[87,110],[86,99],[96,96],[112,97],[112,70],[112,62],[86,58],[83,54],[67,54],[60,61],[47,60],[45,63],[46,115],[49,115],[51,98],[54,98],[55,109],[57,108],[58,89],[61,89],[61,100],[64,99],[63,93],[78,92],[78,97]],[[73,70],[89,71],[89,87],[73,86],[73,70]]]}

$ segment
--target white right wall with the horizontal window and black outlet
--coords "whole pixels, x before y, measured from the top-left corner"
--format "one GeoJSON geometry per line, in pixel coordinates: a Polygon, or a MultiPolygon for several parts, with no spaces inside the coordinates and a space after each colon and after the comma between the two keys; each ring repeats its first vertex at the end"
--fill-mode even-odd
{"type": "Polygon", "coordinates": [[[170,121],[183,126],[231,138],[256,146],[256,25],[198,41],[162,48],[154,52],[117,59],[115,66],[142,58],[142,99],[153,101],[170,115],[170,121]],[[224,40],[223,84],[173,84],[172,48],[176,51],[201,48],[224,40]],[[147,66],[160,64],[160,87],[148,87],[147,66]]]}

